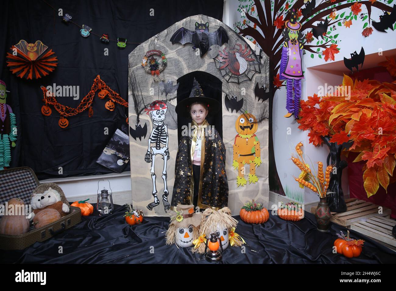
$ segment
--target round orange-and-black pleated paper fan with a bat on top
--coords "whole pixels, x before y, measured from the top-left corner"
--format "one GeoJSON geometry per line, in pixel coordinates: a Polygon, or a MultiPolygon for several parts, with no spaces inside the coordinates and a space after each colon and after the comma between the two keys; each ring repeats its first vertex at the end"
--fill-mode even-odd
{"type": "Polygon", "coordinates": [[[34,44],[20,40],[10,49],[11,52],[7,53],[7,67],[19,78],[38,79],[47,76],[57,67],[58,59],[55,53],[40,40],[34,44]]]}

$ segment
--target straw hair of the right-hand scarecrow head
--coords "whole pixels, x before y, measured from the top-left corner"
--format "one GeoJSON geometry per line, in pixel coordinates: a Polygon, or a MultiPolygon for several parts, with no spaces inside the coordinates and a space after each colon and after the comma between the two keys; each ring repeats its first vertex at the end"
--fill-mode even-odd
{"type": "MultiPolygon", "coordinates": [[[[217,211],[207,208],[202,213],[200,234],[205,234],[209,237],[213,228],[217,228],[217,224],[224,225],[229,232],[231,228],[236,227],[238,221],[231,216],[231,210],[228,207],[223,207],[217,211]]],[[[238,246],[240,245],[242,245],[242,242],[238,242],[238,246]]],[[[198,249],[193,248],[192,252],[203,254],[205,252],[205,244],[201,243],[198,249]]]]}

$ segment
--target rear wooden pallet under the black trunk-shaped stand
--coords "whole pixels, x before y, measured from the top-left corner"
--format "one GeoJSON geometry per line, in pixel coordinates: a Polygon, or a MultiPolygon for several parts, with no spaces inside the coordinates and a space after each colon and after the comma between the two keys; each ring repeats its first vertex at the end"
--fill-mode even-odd
{"type": "MultiPolygon", "coordinates": [[[[357,198],[350,198],[345,200],[346,211],[342,213],[331,213],[331,222],[350,228],[354,222],[366,221],[370,217],[385,217],[390,218],[391,209],[383,207],[382,213],[378,213],[379,205],[359,200],[357,198]]],[[[316,207],[311,207],[311,213],[316,213],[316,207]]]]}

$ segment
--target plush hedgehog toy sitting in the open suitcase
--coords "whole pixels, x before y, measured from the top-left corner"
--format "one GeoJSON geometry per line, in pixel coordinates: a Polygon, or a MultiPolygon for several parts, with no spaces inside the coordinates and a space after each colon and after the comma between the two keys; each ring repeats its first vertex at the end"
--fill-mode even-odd
{"type": "Polygon", "coordinates": [[[70,204],[67,202],[62,189],[54,183],[41,184],[33,190],[30,196],[30,205],[32,205],[32,217],[43,209],[56,209],[61,217],[67,215],[70,211],[70,204]]]}

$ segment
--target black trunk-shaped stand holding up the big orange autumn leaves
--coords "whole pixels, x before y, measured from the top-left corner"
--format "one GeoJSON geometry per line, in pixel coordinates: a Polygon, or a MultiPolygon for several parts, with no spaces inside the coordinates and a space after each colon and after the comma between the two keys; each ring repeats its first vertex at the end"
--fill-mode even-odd
{"type": "Polygon", "coordinates": [[[331,164],[336,168],[335,173],[331,171],[329,187],[327,188],[327,193],[329,193],[328,203],[330,211],[336,213],[345,212],[346,203],[344,199],[343,188],[341,187],[341,175],[343,173],[343,169],[348,165],[348,163],[344,160],[341,161],[341,150],[344,148],[348,149],[353,144],[353,142],[338,145],[337,143],[330,143],[329,136],[324,136],[322,139],[330,150],[330,153],[327,156],[327,165],[330,165],[331,158],[331,164]]]}

